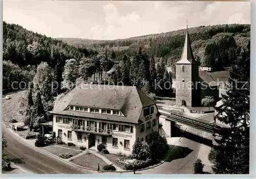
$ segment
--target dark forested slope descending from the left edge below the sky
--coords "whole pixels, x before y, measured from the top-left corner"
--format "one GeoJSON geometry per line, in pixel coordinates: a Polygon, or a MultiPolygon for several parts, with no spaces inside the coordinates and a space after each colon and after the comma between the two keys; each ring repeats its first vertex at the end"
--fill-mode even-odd
{"type": "Polygon", "coordinates": [[[41,62],[47,62],[60,78],[66,60],[80,59],[94,53],[4,21],[3,89],[10,88],[14,81],[32,81],[36,67],[41,62]]]}

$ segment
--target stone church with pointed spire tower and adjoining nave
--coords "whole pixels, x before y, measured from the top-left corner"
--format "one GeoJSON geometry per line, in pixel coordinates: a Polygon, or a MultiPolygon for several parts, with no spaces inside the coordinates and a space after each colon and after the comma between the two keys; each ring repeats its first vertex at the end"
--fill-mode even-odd
{"type": "Polygon", "coordinates": [[[219,86],[209,72],[199,70],[191,48],[188,30],[181,59],[176,63],[176,105],[198,107],[205,96],[218,100],[219,86]]]}

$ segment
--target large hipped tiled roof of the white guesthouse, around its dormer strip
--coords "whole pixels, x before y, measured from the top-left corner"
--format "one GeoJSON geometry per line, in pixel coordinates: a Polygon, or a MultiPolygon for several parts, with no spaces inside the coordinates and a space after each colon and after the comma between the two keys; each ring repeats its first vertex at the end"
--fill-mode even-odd
{"type": "Polygon", "coordinates": [[[138,123],[142,108],[154,104],[135,86],[80,84],[63,96],[51,113],[138,123]],[[70,105],[120,110],[124,116],[65,110],[70,105]]]}

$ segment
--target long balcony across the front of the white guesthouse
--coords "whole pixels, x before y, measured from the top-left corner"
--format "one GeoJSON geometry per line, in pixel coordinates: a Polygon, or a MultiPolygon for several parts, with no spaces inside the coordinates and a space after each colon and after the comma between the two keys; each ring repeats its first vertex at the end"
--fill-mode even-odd
{"type": "Polygon", "coordinates": [[[110,136],[112,132],[112,130],[98,129],[97,127],[86,127],[83,125],[72,125],[72,130],[78,132],[87,132],[91,134],[100,134],[105,136],[110,136]]]}

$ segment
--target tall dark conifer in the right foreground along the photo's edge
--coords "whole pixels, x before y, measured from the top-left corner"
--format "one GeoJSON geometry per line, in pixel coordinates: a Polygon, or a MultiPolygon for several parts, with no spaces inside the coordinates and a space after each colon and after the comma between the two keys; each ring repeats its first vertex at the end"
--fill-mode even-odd
{"type": "Polygon", "coordinates": [[[217,119],[230,127],[218,131],[215,173],[249,173],[250,50],[242,49],[230,70],[229,88],[216,108],[217,119]]]}

